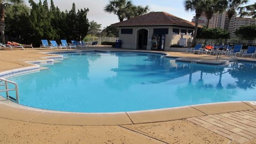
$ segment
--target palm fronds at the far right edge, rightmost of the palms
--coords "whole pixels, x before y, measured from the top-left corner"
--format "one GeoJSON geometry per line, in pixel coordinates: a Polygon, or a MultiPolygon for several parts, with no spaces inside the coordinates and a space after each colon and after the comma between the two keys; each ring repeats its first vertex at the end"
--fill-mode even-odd
{"type": "Polygon", "coordinates": [[[240,7],[240,8],[241,8],[239,11],[240,17],[249,16],[254,19],[256,18],[256,3],[247,5],[244,7],[240,7]]]}

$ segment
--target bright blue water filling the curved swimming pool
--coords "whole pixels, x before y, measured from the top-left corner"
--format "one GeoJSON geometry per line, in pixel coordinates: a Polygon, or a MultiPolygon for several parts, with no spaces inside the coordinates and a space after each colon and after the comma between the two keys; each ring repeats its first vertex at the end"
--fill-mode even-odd
{"type": "Polygon", "coordinates": [[[21,105],[98,113],[256,100],[255,63],[212,66],[132,52],[62,55],[68,59],[50,69],[9,78],[19,85],[21,105]]]}

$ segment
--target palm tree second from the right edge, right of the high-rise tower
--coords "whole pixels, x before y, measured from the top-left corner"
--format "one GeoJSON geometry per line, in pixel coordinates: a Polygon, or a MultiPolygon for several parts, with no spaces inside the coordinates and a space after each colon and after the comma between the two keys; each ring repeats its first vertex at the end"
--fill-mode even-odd
{"type": "Polygon", "coordinates": [[[236,10],[239,9],[240,5],[246,4],[247,2],[248,0],[228,0],[228,28],[231,18],[236,14],[236,10]]]}

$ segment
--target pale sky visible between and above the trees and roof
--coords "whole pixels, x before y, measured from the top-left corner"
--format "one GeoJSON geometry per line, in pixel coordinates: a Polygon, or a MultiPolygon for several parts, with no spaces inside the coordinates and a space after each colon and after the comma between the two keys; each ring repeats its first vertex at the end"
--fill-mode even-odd
{"type": "MultiPolygon", "coordinates": [[[[43,1],[43,0],[41,0],[43,1]]],[[[47,0],[50,4],[50,0],[47,0]]],[[[191,21],[195,12],[185,11],[185,0],[132,0],[134,5],[149,6],[150,12],[167,12],[182,19],[191,21]]],[[[29,5],[28,0],[25,0],[29,5]]],[[[39,0],[34,0],[38,3],[39,0]]],[[[53,0],[54,5],[58,6],[61,11],[71,10],[72,4],[75,3],[76,9],[89,8],[87,17],[89,21],[95,21],[101,24],[101,29],[119,22],[117,15],[113,13],[106,13],[103,11],[104,7],[109,3],[109,0],[53,0]]],[[[247,4],[253,4],[254,0],[249,0],[247,4]]]]}

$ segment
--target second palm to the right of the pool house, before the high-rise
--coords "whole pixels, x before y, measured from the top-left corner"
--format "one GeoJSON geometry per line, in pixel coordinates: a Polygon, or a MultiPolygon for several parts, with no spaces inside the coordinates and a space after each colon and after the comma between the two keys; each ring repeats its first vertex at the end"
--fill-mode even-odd
{"type": "Polygon", "coordinates": [[[206,0],[205,15],[207,18],[206,27],[209,27],[210,19],[216,12],[223,12],[227,9],[227,0],[206,0]]]}

